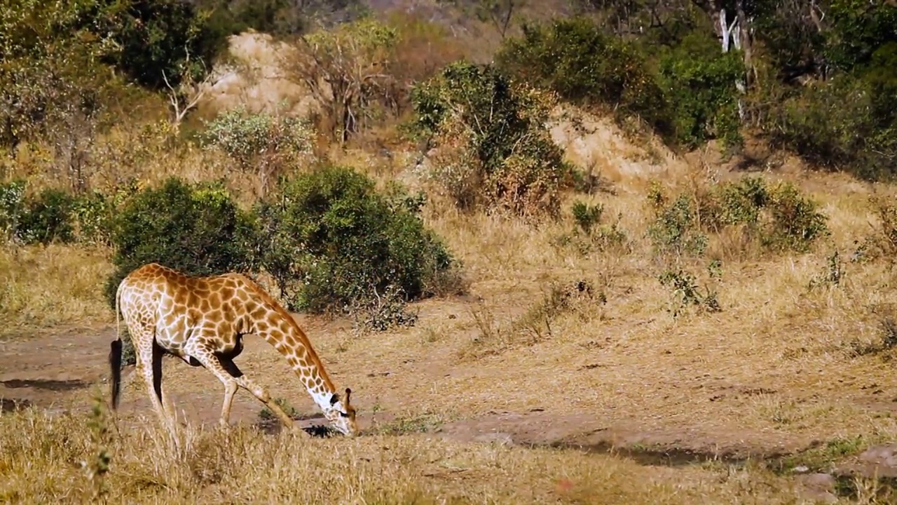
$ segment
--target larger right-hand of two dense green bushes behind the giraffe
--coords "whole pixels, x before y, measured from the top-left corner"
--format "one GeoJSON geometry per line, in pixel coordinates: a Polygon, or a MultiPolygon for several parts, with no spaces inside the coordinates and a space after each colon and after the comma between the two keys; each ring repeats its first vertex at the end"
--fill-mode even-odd
{"type": "Polygon", "coordinates": [[[353,311],[389,292],[434,292],[453,259],[417,215],[422,201],[394,185],[322,165],[284,180],[258,207],[261,264],[292,310],[353,311]]]}

